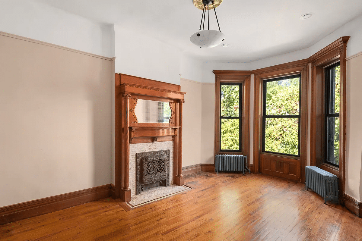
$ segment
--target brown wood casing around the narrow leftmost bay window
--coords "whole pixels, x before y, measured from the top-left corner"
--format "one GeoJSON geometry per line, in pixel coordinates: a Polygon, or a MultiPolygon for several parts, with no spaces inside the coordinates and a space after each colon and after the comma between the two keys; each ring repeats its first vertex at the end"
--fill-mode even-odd
{"type": "Polygon", "coordinates": [[[215,74],[215,143],[214,155],[249,155],[250,71],[214,70],[215,74]],[[220,150],[220,87],[222,83],[241,83],[241,144],[239,151],[220,150]]]}

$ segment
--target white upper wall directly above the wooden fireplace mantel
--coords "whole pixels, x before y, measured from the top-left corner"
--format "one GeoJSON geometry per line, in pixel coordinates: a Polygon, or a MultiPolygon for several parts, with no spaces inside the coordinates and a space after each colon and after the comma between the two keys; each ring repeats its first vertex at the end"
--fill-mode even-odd
{"type": "Polygon", "coordinates": [[[114,25],[115,72],[180,85],[180,77],[201,82],[201,61],[174,46],[114,25]]]}

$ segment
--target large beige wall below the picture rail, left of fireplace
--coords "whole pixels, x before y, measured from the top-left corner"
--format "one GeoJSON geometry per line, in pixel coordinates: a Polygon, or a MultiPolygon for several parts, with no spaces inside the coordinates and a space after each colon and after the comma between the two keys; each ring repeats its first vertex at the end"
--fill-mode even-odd
{"type": "Polygon", "coordinates": [[[0,206],[112,182],[112,64],[0,35],[0,206]]]}

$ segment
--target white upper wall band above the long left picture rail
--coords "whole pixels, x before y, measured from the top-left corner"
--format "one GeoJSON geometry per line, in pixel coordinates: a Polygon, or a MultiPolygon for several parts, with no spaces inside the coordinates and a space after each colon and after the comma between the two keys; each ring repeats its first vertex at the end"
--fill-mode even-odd
{"type": "Polygon", "coordinates": [[[114,57],[114,27],[35,0],[1,0],[0,31],[114,57]]]}

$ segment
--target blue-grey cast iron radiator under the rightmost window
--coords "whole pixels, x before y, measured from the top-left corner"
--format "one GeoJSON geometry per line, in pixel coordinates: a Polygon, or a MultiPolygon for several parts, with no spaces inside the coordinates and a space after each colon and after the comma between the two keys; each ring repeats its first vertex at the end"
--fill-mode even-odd
{"type": "Polygon", "coordinates": [[[338,204],[337,176],[319,167],[306,167],[306,190],[315,191],[327,201],[338,204]]]}

